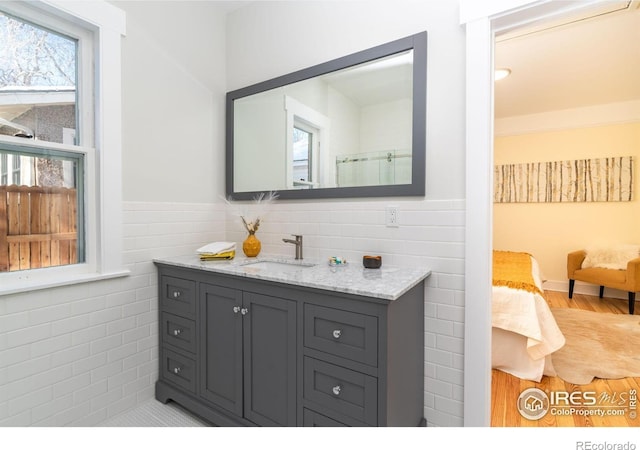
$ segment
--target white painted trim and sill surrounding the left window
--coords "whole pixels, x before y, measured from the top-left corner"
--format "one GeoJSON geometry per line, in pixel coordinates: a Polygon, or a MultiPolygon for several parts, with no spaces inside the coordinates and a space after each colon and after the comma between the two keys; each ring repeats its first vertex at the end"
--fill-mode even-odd
{"type": "MultiPolygon", "coordinates": [[[[28,6],[31,11],[48,14],[53,21],[61,18],[73,22],[94,35],[96,73],[93,77],[93,91],[96,103],[91,116],[83,116],[82,119],[92,120],[94,123],[95,137],[89,138],[95,142],[95,149],[42,143],[47,148],[81,152],[85,155],[85,174],[91,174],[87,176],[85,185],[88,199],[85,205],[87,255],[86,262],[81,264],[2,273],[0,296],[129,274],[122,259],[120,41],[125,34],[125,13],[102,0],[42,0],[28,2],[28,6]]],[[[3,4],[3,8],[9,12],[19,10],[20,15],[25,17],[22,15],[24,5],[21,2],[3,4]]],[[[80,51],[83,51],[82,48],[80,51]]],[[[25,144],[10,136],[6,140],[25,144]]],[[[29,145],[34,145],[34,142],[29,142],[29,145]]]]}

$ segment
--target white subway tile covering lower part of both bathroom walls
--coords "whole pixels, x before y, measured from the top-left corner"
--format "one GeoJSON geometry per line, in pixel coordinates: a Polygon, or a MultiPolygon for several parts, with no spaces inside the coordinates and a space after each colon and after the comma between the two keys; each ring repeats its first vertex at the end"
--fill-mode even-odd
{"type": "MultiPolygon", "coordinates": [[[[258,231],[264,253],[293,256],[282,238],[304,235],[305,258],[424,265],[424,414],[463,424],[464,201],[277,202],[258,231]],[[398,228],[384,208],[399,210],[398,228]]],[[[155,257],[193,252],[245,232],[222,204],[124,204],[131,275],[0,297],[0,426],[93,426],[153,397],[157,379],[155,257]]],[[[240,248],[238,249],[240,251],[240,248]]]]}

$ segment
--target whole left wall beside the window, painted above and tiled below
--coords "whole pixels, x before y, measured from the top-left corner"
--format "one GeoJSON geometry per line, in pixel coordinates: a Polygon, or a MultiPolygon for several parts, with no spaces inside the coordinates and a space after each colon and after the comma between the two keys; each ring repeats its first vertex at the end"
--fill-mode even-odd
{"type": "Polygon", "coordinates": [[[0,426],[91,426],[153,398],[152,259],[225,238],[216,204],[225,16],[213,3],[112,3],[127,12],[123,260],[131,275],[0,296],[0,426]]]}

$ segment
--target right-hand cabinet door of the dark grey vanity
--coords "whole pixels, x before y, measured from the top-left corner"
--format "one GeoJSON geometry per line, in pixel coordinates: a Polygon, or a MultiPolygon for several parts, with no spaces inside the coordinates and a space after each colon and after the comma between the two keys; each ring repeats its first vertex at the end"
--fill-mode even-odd
{"type": "Polygon", "coordinates": [[[296,426],[296,303],[244,293],[244,413],[262,426],[296,426]]]}

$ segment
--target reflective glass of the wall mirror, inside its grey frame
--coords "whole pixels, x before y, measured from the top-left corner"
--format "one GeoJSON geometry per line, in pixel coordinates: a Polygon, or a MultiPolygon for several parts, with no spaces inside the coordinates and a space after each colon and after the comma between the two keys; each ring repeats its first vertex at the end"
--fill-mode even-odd
{"type": "Polygon", "coordinates": [[[413,50],[235,101],[234,190],[411,183],[413,50]]]}

